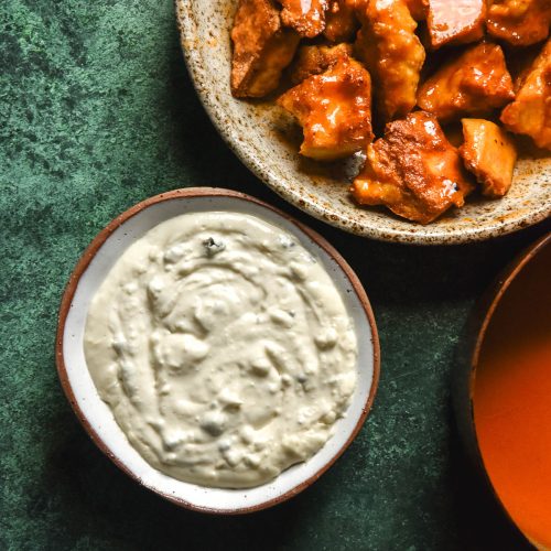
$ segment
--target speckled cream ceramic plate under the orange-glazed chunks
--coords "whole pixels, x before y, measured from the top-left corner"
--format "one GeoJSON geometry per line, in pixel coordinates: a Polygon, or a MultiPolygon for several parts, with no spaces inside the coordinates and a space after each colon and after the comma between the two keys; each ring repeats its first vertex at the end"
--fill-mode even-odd
{"type": "MultiPolygon", "coordinates": [[[[375,239],[418,245],[479,241],[551,215],[551,158],[521,155],[506,197],[469,197],[429,226],[382,208],[360,208],[348,187],[354,166],[301,158],[300,130],[271,101],[242,101],[229,90],[236,0],[176,0],[182,47],[197,93],[218,131],[241,161],[279,195],[333,226],[375,239]]],[[[357,163],[356,163],[357,164],[357,163]]]]}

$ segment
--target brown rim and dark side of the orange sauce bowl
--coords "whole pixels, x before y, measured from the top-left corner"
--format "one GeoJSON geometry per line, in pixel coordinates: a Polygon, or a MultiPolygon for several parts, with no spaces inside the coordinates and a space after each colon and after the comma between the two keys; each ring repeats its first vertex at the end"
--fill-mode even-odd
{"type": "Polygon", "coordinates": [[[456,374],[456,377],[460,378],[460,380],[456,380],[458,389],[457,393],[454,396],[456,417],[460,422],[460,431],[465,439],[467,452],[471,455],[471,460],[474,461],[478,475],[482,475],[487,489],[489,489],[495,501],[498,504],[499,509],[505,514],[511,527],[515,528],[517,534],[530,545],[533,545],[533,543],[531,543],[528,537],[518,528],[517,523],[505,507],[505,504],[498,496],[486,469],[478,443],[473,398],[480,350],[484,345],[488,326],[494,317],[494,313],[517,276],[548,246],[551,246],[551,231],[544,234],[536,242],[528,246],[519,255],[517,255],[515,259],[505,268],[501,274],[498,276],[494,284],[490,285],[486,294],[484,294],[480,299],[477,307],[473,312],[471,324],[466,329],[467,339],[469,339],[471,346],[467,342],[466,347],[469,350],[468,356],[465,358],[467,361],[465,361],[465,359],[460,360],[456,374]],[[465,376],[465,369],[468,369],[467,376],[465,376]],[[467,406],[466,411],[465,404],[467,406]]]}

